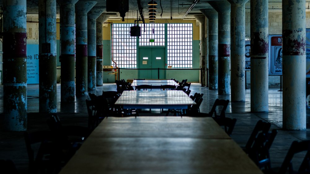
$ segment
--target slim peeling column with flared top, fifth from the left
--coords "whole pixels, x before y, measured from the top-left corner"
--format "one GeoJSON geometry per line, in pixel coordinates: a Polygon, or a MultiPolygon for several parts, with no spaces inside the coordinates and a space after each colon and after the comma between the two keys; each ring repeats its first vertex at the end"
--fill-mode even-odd
{"type": "Polygon", "coordinates": [[[96,89],[96,19],[102,14],[105,7],[95,6],[87,14],[87,89],[96,89]]]}

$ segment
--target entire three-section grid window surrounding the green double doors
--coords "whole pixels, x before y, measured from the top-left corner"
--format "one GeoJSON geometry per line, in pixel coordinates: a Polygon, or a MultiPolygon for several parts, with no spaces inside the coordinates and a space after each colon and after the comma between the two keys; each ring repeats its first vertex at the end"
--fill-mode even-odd
{"type": "MultiPolygon", "coordinates": [[[[193,24],[157,24],[158,25],[155,26],[160,26],[159,31],[162,33],[157,34],[156,36],[163,36],[163,41],[159,42],[163,43],[163,45],[156,45],[155,43],[158,44],[158,42],[149,42],[149,35],[147,33],[144,34],[144,26],[141,27],[141,37],[146,37],[142,38],[142,41],[140,41],[140,37],[137,38],[130,36],[130,27],[134,24],[114,23],[111,25],[111,42],[113,42],[111,43],[111,56],[113,56],[113,59],[117,62],[119,68],[137,68],[139,47],[165,47],[167,66],[171,66],[173,69],[193,68],[193,24]],[[113,29],[113,27],[115,28],[113,29]],[[120,28],[121,30],[116,31],[116,28],[120,28]],[[130,49],[124,49],[125,47],[130,47],[130,49]],[[122,59],[119,57],[120,55],[121,57],[129,57],[129,60],[122,59]]],[[[147,25],[146,30],[148,28],[153,28],[153,26],[150,24],[147,25]]],[[[156,38],[152,39],[155,39],[156,41],[156,38]]],[[[115,66],[112,60],[111,65],[115,66]]]]}

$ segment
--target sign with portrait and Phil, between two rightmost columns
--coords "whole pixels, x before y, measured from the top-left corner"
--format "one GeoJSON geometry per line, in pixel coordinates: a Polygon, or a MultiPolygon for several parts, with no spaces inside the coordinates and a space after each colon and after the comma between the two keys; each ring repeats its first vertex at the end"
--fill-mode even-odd
{"type": "Polygon", "coordinates": [[[282,36],[269,35],[269,75],[282,75],[282,36]]]}

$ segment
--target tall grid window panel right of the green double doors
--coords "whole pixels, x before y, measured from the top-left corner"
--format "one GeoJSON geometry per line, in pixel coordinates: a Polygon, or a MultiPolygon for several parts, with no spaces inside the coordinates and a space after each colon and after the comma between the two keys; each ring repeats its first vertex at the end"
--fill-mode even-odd
{"type": "Polygon", "coordinates": [[[193,24],[167,24],[167,66],[193,68],[193,24]]]}

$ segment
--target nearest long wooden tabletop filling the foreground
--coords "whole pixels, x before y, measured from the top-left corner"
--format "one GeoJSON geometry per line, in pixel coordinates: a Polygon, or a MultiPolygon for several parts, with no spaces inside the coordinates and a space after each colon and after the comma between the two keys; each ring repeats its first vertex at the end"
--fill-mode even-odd
{"type": "Polygon", "coordinates": [[[210,117],[107,117],[65,173],[263,173],[210,117]]]}

